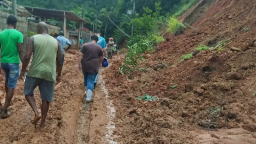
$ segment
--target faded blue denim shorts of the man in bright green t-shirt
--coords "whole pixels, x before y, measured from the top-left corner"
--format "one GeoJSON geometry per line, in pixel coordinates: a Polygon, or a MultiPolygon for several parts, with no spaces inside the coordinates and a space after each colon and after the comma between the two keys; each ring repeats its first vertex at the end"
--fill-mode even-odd
{"type": "Polygon", "coordinates": [[[5,73],[5,80],[8,81],[9,88],[16,88],[20,76],[20,64],[16,63],[1,63],[1,68],[5,73]]]}

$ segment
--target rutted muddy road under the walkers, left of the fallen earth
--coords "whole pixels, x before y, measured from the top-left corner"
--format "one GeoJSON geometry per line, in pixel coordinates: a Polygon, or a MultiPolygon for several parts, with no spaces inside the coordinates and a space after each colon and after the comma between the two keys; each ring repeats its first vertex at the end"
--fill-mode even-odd
{"type": "MultiPolygon", "coordinates": [[[[83,75],[76,67],[77,51],[65,56],[62,80],[55,86],[54,100],[46,119],[46,128],[39,132],[30,123],[34,114],[24,95],[24,81],[19,80],[13,97],[14,105],[9,107],[12,115],[0,119],[0,143],[3,144],[99,144],[113,143],[112,121],[115,111],[108,100],[104,80],[99,76],[94,102],[83,104],[83,75]],[[102,89],[103,87],[103,89],[102,89]]],[[[111,63],[111,62],[110,62],[111,63]]],[[[103,74],[103,68],[100,73],[103,74]]],[[[4,103],[4,73],[0,73],[0,100],[4,103]]],[[[41,107],[38,88],[35,90],[36,104],[41,107]]],[[[38,122],[39,123],[39,122],[38,122]]],[[[115,143],[115,142],[114,142],[115,143]]]]}

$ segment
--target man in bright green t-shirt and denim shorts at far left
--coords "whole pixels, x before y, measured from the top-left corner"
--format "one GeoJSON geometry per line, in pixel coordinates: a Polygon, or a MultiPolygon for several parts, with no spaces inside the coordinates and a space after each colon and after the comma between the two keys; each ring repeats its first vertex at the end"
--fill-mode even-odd
{"type": "Polygon", "coordinates": [[[17,19],[14,15],[7,18],[7,29],[0,33],[1,68],[5,73],[6,99],[1,110],[1,118],[7,118],[10,113],[7,108],[12,101],[14,89],[20,75],[20,60],[23,63],[23,36],[17,31],[17,19]]]}

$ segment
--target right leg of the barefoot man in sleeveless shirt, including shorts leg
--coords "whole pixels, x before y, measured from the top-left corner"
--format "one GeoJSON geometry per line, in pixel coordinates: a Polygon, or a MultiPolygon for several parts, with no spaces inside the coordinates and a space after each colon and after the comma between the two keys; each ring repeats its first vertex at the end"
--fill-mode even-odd
{"type": "Polygon", "coordinates": [[[39,91],[42,99],[42,121],[40,128],[44,128],[45,126],[45,119],[49,110],[50,102],[52,102],[53,95],[54,95],[54,82],[49,82],[44,80],[39,85],[39,91]]]}

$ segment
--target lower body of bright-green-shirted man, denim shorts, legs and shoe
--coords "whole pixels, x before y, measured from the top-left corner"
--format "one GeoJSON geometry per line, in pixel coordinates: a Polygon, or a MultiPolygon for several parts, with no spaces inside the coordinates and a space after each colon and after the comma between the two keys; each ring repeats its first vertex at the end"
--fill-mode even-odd
{"type": "Polygon", "coordinates": [[[2,108],[1,118],[7,118],[10,116],[10,113],[7,112],[7,108],[12,101],[14,94],[14,89],[17,86],[18,78],[20,76],[20,65],[19,64],[1,64],[2,69],[5,72],[5,89],[6,89],[6,98],[4,107],[2,108]],[[7,84],[7,86],[6,86],[7,84]]]}

